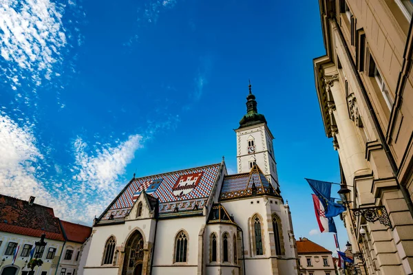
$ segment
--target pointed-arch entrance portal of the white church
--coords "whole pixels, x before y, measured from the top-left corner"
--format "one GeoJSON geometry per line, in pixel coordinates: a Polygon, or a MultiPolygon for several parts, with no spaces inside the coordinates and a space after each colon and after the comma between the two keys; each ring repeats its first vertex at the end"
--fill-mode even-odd
{"type": "Polygon", "coordinates": [[[142,274],[143,236],[138,230],[131,234],[125,248],[122,275],[142,274]]]}

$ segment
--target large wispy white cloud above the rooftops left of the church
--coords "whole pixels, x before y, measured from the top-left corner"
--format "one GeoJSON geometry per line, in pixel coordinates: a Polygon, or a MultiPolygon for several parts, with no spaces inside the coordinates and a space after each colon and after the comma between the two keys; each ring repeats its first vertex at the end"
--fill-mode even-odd
{"type": "Polygon", "coordinates": [[[51,179],[51,187],[42,170],[45,158],[39,150],[30,126],[19,126],[7,115],[0,115],[0,193],[54,208],[57,217],[70,221],[92,222],[125,184],[119,177],[142,146],[140,135],[129,135],[116,146],[108,144],[96,153],[87,152],[87,144],[78,137],[74,142],[75,164],[65,171],[54,170],[63,179],[51,179]],[[70,204],[69,204],[70,203],[70,204]]]}

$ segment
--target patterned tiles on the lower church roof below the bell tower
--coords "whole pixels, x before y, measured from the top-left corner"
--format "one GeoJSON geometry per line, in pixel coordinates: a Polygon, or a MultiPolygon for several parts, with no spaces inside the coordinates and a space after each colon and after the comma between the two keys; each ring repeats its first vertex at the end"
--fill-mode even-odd
{"type": "MultiPolygon", "coordinates": [[[[270,187],[268,179],[257,165],[251,169],[250,173],[225,176],[221,189],[221,198],[227,197],[226,195],[229,193],[234,194],[234,192],[235,194],[239,194],[238,196],[243,194],[248,195],[249,193],[241,193],[239,191],[251,189],[253,187],[253,183],[255,184],[255,187],[259,191],[262,190],[262,192],[266,192],[266,190],[270,187]]],[[[231,195],[231,197],[235,196],[231,195]]]]}

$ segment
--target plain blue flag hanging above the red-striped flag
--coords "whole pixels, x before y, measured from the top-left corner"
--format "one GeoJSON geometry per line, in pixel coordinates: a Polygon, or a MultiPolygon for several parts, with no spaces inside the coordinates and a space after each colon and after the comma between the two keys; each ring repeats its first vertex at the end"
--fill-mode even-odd
{"type": "Polygon", "coordinates": [[[321,203],[326,209],[326,218],[336,217],[340,213],[346,211],[346,207],[336,203],[335,199],[331,197],[331,182],[317,181],[315,179],[306,179],[310,184],[311,189],[315,195],[319,197],[321,203]]]}

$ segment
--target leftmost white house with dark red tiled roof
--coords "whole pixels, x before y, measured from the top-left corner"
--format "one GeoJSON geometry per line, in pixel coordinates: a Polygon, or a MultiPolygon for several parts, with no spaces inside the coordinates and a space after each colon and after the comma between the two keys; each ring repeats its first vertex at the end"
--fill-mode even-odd
{"type": "Polygon", "coordinates": [[[34,270],[36,275],[52,275],[56,273],[65,243],[53,208],[34,203],[34,197],[23,201],[0,195],[0,274],[28,274],[30,252],[43,233],[46,245],[33,255],[42,259],[43,265],[34,270]],[[13,263],[16,251],[17,257],[13,263]]]}

